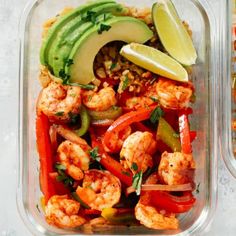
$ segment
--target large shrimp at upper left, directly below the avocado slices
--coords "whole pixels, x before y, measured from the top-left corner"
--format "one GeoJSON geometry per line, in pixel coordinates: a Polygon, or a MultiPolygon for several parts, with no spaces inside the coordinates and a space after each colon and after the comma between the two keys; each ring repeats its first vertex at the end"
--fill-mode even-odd
{"type": "Polygon", "coordinates": [[[51,82],[44,88],[38,101],[38,109],[51,121],[70,121],[71,114],[78,114],[81,105],[81,89],[76,86],[51,82]]]}

